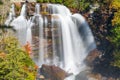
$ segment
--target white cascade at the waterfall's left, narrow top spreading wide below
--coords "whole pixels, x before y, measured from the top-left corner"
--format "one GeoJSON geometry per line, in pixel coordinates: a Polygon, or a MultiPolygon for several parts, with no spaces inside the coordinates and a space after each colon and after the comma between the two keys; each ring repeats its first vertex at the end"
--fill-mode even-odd
{"type": "Polygon", "coordinates": [[[31,19],[26,19],[26,10],[27,6],[24,4],[21,9],[20,16],[14,19],[10,24],[17,31],[17,37],[21,45],[25,45],[27,42],[32,44],[31,27],[34,23],[32,23],[31,19]]]}

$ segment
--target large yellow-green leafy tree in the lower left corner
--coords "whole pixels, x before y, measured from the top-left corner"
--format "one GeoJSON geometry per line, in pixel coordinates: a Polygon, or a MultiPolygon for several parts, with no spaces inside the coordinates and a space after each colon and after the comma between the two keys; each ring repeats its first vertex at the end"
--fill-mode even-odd
{"type": "Polygon", "coordinates": [[[35,80],[35,64],[14,37],[0,41],[0,62],[0,80],[35,80]]]}

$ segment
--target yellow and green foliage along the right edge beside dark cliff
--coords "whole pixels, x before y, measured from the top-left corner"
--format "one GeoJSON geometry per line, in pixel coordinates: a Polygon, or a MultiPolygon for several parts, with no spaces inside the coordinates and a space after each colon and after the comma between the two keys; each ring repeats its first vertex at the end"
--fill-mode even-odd
{"type": "Polygon", "coordinates": [[[115,60],[113,62],[113,65],[120,67],[120,0],[112,0],[110,8],[116,10],[112,20],[112,25],[114,26],[114,28],[112,29],[113,35],[110,37],[110,40],[115,47],[115,60]]]}

